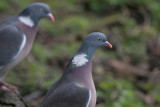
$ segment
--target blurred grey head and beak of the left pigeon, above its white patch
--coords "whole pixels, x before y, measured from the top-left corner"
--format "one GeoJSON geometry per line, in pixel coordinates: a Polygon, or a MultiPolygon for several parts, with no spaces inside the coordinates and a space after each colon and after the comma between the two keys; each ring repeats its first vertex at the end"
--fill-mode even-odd
{"type": "Polygon", "coordinates": [[[54,17],[51,14],[51,10],[47,4],[44,3],[33,3],[27,6],[19,16],[30,17],[34,24],[38,24],[41,18],[49,18],[54,21],[54,17]]]}

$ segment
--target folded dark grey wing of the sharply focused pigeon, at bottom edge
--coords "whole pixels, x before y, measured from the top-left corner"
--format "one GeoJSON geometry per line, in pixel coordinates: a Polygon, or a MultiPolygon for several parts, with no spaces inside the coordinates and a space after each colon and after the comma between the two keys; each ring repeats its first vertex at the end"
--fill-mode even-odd
{"type": "Polygon", "coordinates": [[[40,107],[88,107],[91,91],[75,83],[61,84],[49,91],[40,107]]]}

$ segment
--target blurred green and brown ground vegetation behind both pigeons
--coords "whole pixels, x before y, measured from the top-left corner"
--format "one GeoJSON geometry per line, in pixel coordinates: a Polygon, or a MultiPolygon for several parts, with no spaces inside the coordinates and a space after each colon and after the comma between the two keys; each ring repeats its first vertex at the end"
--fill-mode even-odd
{"type": "Polygon", "coordinates": [[[160,107],[159,0],[0,0],[0,19],[33,2],[47,3],[56,21],[40,21],[31,53],[5,78],[31,107],[94,31],[113,45],[94,55],[97,107],[160,107]]]}

